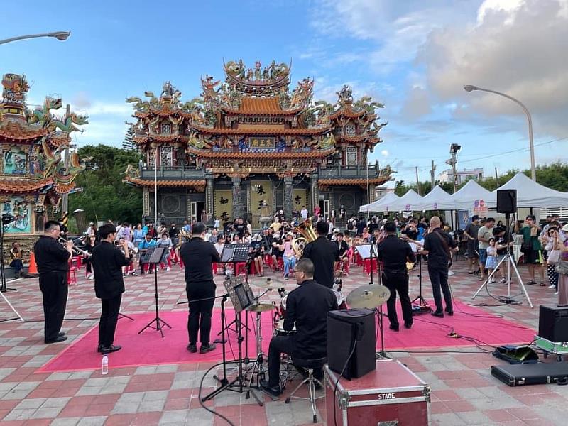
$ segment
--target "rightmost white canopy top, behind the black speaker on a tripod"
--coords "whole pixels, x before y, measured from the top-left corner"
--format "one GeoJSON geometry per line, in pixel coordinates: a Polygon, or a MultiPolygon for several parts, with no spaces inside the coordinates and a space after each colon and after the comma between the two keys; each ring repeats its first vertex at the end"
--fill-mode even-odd
{"type": "Polygon", "coordinates": [[[568,207],[568,192],[551,190],[520,172],[494,190],[493,197],[498,190],[517,190],[517,207],[568,207]]]}

